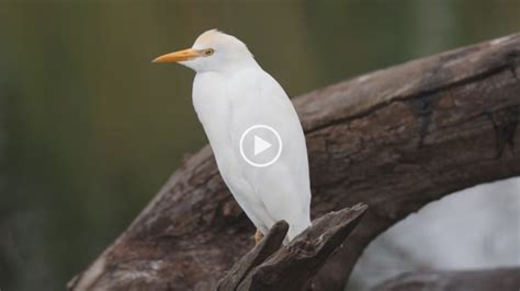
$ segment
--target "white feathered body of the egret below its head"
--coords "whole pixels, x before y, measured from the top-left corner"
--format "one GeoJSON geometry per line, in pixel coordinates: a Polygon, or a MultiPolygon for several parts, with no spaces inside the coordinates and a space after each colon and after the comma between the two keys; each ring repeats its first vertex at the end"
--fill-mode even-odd
{"type": "Polygon", "coordinates": [[[265,234],[285,220],[290,240],[310,225],[305,138],[279,83],[257,63],[227,74],[197,73],[193,105],[224,182],[255,225],[265,234]],[[258,124],[275,128],[283,140],[280,159],[268,167],[251,166],[239,152],[241,133],[258,124]]]}

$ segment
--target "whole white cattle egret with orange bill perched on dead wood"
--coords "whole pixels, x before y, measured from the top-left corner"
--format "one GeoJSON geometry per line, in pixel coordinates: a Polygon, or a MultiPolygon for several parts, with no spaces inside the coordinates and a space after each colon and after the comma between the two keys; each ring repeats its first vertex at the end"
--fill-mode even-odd
{"type": "Polygon", "coordinates": [[[235,36],[211,30],[191,48],[154,62],[179,62],[196,72],[193,106],[215,154],[224,182],[257,226],[255,238],[280,220],[290,224],[287,243],[310,225],[310,186],[305,136],[296,110],[282,86],[257,63],[235,36]],[[270,163],[250,163],[241,142],[251,129],[256,158],[279,152],[270,163]],[[283,144],[283,147],[282,147],[283,144]],[[242,154],[240,153],[242,151],[242,154]]]}

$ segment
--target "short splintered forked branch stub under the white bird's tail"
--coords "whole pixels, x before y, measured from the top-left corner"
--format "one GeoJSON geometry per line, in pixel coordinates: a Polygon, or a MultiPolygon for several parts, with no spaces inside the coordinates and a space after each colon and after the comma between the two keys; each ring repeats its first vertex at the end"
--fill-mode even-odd
{"type": "Polygon", "coordinates": [[[327,213],[282,248],[289,225],[275,224],[265,240],[218,281],[216,290],[302,290],[354,230],[365,210],[366,206],[357,205],[327,213]]]}

